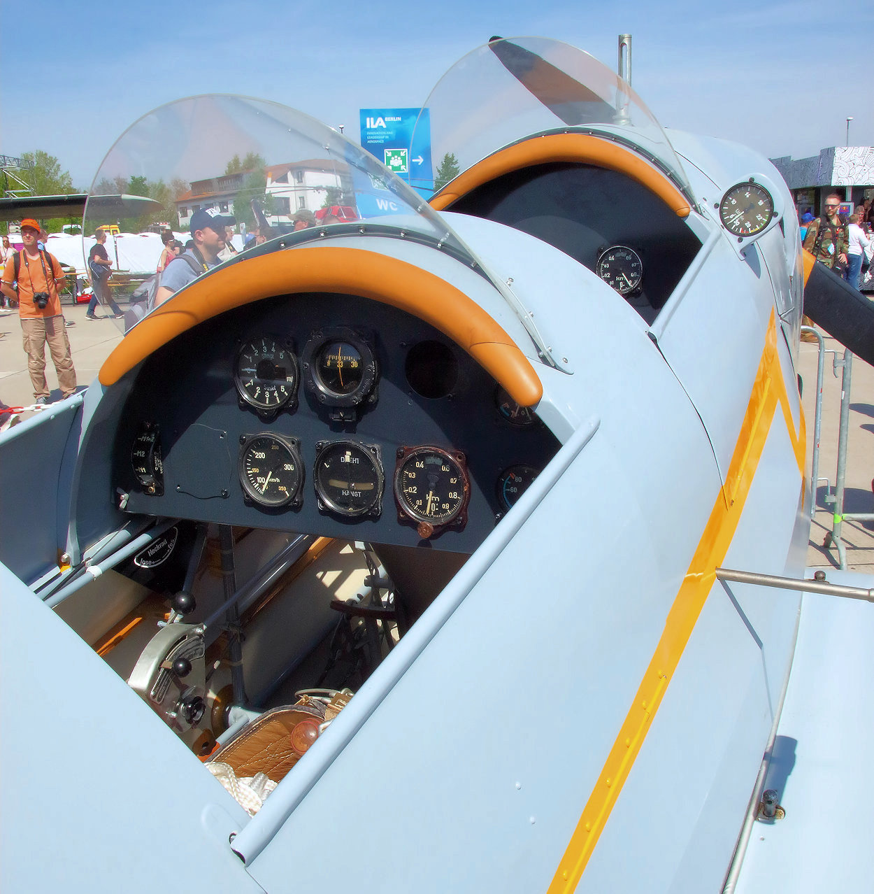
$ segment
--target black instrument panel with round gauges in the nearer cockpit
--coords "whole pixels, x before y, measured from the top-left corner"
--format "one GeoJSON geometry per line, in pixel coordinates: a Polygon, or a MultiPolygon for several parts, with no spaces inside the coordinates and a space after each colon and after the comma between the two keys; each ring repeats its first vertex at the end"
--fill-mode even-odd
{"type": "Polygon", "coordinates": [[[446,336],[348,295],[265,299],[183,333],[139,367],[121,418],[128,512],[451,552],[523,493],[508,469],[533,480],[559,449],[446,336]],[[147,476],[131,462],[145,431],[161,458],[147,476]]]}

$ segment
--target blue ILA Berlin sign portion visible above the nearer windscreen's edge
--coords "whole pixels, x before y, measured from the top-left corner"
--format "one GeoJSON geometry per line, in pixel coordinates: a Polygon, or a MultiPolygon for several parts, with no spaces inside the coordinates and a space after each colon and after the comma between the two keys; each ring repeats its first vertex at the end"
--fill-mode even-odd
{"type": "Polygon", "coordinates": [[[417,108],[360,109],[359,114],[362,147],[430,198],[434,181],[428,110],[424,109],[421,118],[417,108]]]}

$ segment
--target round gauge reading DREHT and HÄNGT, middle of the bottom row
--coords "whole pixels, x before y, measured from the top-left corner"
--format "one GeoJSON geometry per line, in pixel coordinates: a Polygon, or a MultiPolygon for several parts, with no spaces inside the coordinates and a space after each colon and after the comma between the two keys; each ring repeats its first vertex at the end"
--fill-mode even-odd
{"type": "Polygon", "coordinates": [[[338,515],[379,515],[382,466],[376,447],[354,441],[315,445],[315,493],[338,515]]]}

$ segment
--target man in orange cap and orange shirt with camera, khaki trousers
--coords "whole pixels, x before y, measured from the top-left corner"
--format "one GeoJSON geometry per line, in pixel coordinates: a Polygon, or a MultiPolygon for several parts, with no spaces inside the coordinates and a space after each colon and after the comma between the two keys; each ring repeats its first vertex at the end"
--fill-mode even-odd
{"type": "Polygon", "coordinates": [[[70,340],[64,327],[58,286],[64,275],[57,258],[38,247],[39,224],[31,218],[21,221],[24,248],[6,261],[0,290],[8,299],[18,301],[24,350],[28,355],[28,371],[37,403],[48,402],[46,384],[46,342],[55,363],[58,384],[63,396],[76,391],[76,370],[72,365],[70,340]],[[18,274],[16,277],[16,257],[18,274]],[[14,283],[18,282],[16,294],[14,283]]]}

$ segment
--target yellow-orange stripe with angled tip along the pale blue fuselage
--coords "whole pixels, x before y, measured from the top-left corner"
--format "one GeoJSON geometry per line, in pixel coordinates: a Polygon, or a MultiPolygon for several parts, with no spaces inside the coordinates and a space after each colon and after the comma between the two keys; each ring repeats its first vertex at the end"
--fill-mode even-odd
{"type": "Polygon", "coordinates": [[[643,675],[641,685],[634,696],[625,722],[610,748],[601,775],[592,789],[583,815],[567,845],[559,868],[550,883],[550,894],[572,891],[583,875],[589,857],[601,837],[609,814],[616,804],[619,792],[625,785],[628,773],[634,765],[643,739],[650,729],[655,713],[659,710],[668,683],[677,670],[689,637],[701,614],[710,588],[716,580],[716,569],[725,560],[735,530],[750,493],[761,453],[779,403],[783,409],[786,428],[792,441],[799,471],[804,474],[804,415],[801,413],[799,432],[796,435],[792,421],[792,409],[786,392],[786,382],[777,354],[777,325],[774,312],[768,325],[765,347],[762,350],[759,370],[746,408],[744,422],[735,444],[735,451],[728,467],[726,484],[722,487],[704,527],[702,538],[686,571],[677,598],[668,612],[665,629],[652,655],[650,666],[643,675]]]}

